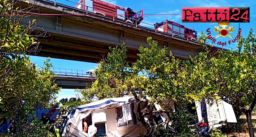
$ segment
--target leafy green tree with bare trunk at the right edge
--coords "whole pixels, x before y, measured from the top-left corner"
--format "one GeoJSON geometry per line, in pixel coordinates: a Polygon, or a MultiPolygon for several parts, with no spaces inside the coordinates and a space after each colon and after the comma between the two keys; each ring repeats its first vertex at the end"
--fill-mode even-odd
{"type": "Polygon", "coordinates": [[[223,99],[247,117],[250,137],[254,137],[251,111],[256,104],[256,39],[252,29],[239,36],[238,50],[209,56],[200,53],[187,65],[186,85],[192,98],[201,101],[223,99]],[[248,109],[246,106],[250,105],[248,109]]]}

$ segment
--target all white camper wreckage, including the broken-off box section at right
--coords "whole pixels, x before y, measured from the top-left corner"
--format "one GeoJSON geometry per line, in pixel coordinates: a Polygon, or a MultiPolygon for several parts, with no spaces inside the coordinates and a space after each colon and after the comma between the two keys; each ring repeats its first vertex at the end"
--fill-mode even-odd
{"type": "MultiPolygon", "coordinates": [[[[143,116],[144,123],[149,125],[149,99],[143,99],[142,96],[137,100],[131,96],[107,98],[73,108],[63,116],[59,134],[62,137],[139,137],[140,133],[146,132],[140,117],[143,116]],[[141,113],[137,111],[138,108],[141,113]]],[[[169,121],[172,112],[162,110],[158,104],[151,106],[155,126],[172,124],[169,121]]],[[[195,116],[190,128],[195,129],[198,136],[209,136],[211,129],[226,122],[236,123],[232,106],[222,100],[211,106],[203,102],[190,105],[194,106],[197,109],[189,112],[195,116]],[[209,125],[203,122],[206,112],[209,125]]],[[[169,107],[175,113],[174,104],[169,107]]]]}

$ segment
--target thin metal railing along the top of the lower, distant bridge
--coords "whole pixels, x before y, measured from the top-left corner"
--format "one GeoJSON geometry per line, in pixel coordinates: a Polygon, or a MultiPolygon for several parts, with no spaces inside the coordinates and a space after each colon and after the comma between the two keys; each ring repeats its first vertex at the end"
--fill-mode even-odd
{"type": "Polygon", "coordinates": [[[53,74],[64,77],[82,77],[82,78],[95,78],[93,74],[87,73],[85,70],[66,69],[66,68],[53,68],[53,74]]]}

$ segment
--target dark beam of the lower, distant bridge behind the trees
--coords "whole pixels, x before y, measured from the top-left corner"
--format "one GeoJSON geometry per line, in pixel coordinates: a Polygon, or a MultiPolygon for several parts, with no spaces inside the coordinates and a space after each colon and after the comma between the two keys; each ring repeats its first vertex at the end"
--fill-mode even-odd
{"type": "Polygon", "coordinates": [[[96,78],[62,77],[56,76],[55,83],[62,89],[84,89],[85,84],[91,85],[96,78]]]}

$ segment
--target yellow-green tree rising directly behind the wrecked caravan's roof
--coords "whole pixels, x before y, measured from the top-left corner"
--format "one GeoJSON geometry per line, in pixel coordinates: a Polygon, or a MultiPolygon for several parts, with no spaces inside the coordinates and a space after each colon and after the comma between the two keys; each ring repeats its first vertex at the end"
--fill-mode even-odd
{"type": "Polygon", "coordinates": [[[91,87],[77,90],[81,92],[83,99],[87,102],[91,102],[93,99],[120,97],[131,92],[128,83],[135,77],[135,74],[125,62],[127,49],[122,44],[120,49],[115,47],[110,50],[111,53],[108,54],[107,59],[99,62],[95,69],[94,75],[97,80],[91,87]]]}

